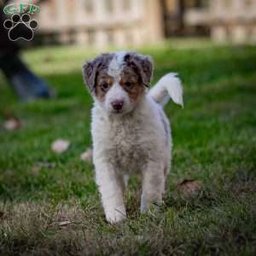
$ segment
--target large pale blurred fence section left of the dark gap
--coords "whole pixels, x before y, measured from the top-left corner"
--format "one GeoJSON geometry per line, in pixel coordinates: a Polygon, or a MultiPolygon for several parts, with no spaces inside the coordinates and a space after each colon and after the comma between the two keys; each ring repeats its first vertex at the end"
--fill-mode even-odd
{"type": "Polygon", "coordinates": [[[37,20],[44,41],[102,48],[163,38],[158,0],[48,0],[40,8],[37,20]]]}

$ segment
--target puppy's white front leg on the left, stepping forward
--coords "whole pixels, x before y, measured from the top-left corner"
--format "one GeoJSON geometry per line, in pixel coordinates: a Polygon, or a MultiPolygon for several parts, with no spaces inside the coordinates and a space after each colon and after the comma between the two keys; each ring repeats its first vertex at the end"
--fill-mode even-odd
{"type": "Polygon", "coordinates": [[[96,163],[96,183],[102,195],[102,205],[109,223],[126,218],[123,199],[124,181],[109,163],[96,163]]]}

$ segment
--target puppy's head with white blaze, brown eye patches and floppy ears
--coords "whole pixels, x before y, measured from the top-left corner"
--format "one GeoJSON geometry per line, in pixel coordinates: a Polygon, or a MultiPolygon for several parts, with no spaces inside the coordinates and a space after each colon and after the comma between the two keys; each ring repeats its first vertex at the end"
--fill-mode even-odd
{"type": "Polygon", "coordinates": [[[97,56],[83,66],[84,83],[108,113],[131,112],[149,87],[153,62],[148,55],[116,52],[97,56]]]}

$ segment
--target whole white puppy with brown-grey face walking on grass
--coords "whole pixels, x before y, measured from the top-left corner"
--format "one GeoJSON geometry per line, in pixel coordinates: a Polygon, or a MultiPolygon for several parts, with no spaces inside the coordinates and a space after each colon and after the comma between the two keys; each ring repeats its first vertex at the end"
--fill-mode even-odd
{"type": "Polygon", "coordinates": [[[96,184],[108,222],[126,217],[124,192],[132,174],[143,177],[141,212],[160,204],[170,170],[172,137],[163,106],[183,106],[183,90],[169,73],[149,90],[153,61],[135,52],[103,54],[83,65],[94,99],[91,134],[96,184]]]}

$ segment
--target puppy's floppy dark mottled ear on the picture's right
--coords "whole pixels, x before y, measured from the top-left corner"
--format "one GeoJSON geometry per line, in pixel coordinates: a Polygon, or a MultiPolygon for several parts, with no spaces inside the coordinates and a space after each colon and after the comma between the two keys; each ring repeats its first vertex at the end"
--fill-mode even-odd
{"type": "Polygon", "coordinates": [[[125,56],[125,61],[129,61],[133,66],[137,67],[143,84],[150,87],[154,68],[152,58],[149,55],[137,55],[137,53],[131,53],[125,56]]]}

